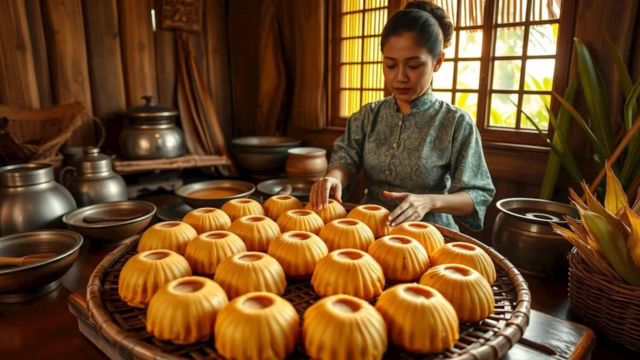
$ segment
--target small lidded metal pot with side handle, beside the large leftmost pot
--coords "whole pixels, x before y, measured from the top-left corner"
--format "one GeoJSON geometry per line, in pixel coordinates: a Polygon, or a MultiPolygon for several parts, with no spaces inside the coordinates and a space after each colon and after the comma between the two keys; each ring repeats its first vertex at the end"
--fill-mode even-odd
{"type": "Polygon", "coordinates": [[[77,206],[83,208],[102,202],[129,199],[127,184],[122,176],[113,171],[111,158],[100,154],[97,147],[84,148],[84,155],[76,159],[74,167],[65,167],[60,172],[60,183],[68,170],[76,174],[65,184],[76,199],[77,206]]]}

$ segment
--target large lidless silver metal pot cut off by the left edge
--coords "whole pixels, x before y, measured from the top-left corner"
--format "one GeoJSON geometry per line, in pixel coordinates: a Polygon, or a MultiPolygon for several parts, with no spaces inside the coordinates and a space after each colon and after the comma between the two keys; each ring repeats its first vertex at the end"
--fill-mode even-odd
{"type": "Polygon", "coordinates": [[[54,181],[51,164],[26,163],[0,168],[0,236],[58,227],[76,200],[54,181]]]}

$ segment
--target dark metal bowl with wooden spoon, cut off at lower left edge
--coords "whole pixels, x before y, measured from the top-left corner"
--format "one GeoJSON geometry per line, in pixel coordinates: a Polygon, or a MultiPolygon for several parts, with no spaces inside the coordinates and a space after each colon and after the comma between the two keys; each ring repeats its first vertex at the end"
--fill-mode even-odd
{"type": "Polygon", "coordinates": [[[80,234],[67,230],[25,231],[0,238],[0,256],[59,254],[32,265],[0,266],[0,302],[21,302],[56,290],[76,262],[82,244],[80,234]]]}

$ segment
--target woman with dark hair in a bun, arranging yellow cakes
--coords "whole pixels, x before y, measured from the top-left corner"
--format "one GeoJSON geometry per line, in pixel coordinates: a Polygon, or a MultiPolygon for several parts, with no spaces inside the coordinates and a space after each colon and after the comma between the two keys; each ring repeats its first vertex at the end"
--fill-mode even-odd
{"type": "Polygon", "coordinates": [[[483,228],[495,195],[480,135],[467,112],[435,98],[429,84],[444,60],[453,26],[439,6],[412,1],[381,35],[385,85],[392,96],[363,106],[335,140],[326,176],[314,183],[316,211],[364,168],[364,204],[389,209],[388,223],[433,222],[454,230],[454,218],[483,228]]]}

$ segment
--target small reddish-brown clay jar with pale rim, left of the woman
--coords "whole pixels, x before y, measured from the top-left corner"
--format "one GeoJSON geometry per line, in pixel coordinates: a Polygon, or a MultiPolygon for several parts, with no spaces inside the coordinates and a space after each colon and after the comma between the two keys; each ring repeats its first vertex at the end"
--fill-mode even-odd
{"type": "Polygon", "coordinates": [[[326,150],[320,147],[294,147],[287,150],[287,153],[287,177],[316,181],[326,174],[326,150]]]}

